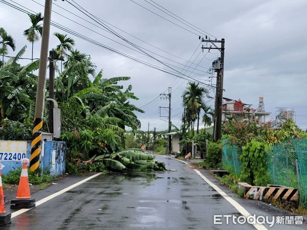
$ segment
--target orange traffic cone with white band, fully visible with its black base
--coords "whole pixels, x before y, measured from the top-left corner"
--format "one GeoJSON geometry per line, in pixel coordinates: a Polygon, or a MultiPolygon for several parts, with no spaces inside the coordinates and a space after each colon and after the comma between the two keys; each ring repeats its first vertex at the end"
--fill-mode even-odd
{"type": "Polygon", "coordinates": [[[31,209],[35,207],[35,199],[31,199],[30,195],[28,163],[29,159],[21,159],[21,164],[23,165],[23,168],[21,169],[16,199],[11,200],[12,209],[31,209]]]}

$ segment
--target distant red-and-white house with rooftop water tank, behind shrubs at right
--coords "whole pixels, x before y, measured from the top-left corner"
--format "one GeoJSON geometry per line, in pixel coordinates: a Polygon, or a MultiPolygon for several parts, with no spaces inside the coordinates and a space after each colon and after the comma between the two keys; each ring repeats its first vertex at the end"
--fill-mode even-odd
{"type": "Polygon", "coordinates": [[[225,103],[222,107],[222,121],[226,121],[228,117],[235,116],[238,118],[243,118],[247,113],[253,113],[255,118],[261,123],[267,123],[271,112],[266,112],[264,107],[264,98],[259,97],[258,108],[252,108],[251,104],[246,104],[240,99],[232,100],[229,98],[223,98],[225,103]]]}

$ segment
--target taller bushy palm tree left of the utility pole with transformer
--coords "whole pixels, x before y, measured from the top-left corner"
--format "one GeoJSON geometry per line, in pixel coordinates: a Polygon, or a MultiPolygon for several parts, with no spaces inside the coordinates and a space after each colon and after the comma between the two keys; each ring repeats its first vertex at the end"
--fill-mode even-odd
{"type": "MultiPolygon", "coordinates": [[[[200,107],[203,104],[203,98],[208,93],[208,90],[198,83],[189,82],[188,87],[182,94],[183,106],[186,108],[187,122],[191,126],[194,133],[194,122],[199,119],[200,107]]],[[[198,122],[199,129],[199,122],[198,122]]]]}

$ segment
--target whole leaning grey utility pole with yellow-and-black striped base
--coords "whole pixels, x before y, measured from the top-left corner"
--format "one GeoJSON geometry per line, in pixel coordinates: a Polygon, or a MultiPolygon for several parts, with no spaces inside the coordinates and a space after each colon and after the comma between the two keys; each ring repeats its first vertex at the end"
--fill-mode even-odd
{"type": "Polygon", "coordinates": [[[45,82],[46,82],[46,72],[47,72],[47,56],[48,56],[49,34],[50,34],[51,7],[52,7],[52,0],[45,0],[45,11],[43,14],[42,39],[40,47],[39,70],[38,70],[37,91],[36,91],[36,100],[35,100],[32,142],[31,142],[31,156],[30,156],[30,171],[35,171],[36,173],[38,173],[39,156],[41,152],[40,141],[41,141],[43,107],[45,102],[45,82]]]}

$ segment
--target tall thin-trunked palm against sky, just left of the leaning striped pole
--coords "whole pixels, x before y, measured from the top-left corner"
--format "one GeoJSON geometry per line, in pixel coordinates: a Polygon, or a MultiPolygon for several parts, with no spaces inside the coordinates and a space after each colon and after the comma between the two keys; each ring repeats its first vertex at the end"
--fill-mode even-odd
{"type": "Polygon", "coordinates": [[[34,44],[34,41],[37,41],[39,39],[39,36],[41,37],[42,26],[41,24],[39,24],[39,22],[43,20],[43,17],[41,16],[41,13],[28,14],[28,15],[30,17],[32,26],[29,29],[24,31],[24,35],[27,37],[27,40],[32,43],[31,60],[33,62],[33,44],[34,44]]]}

